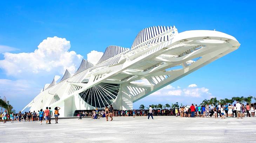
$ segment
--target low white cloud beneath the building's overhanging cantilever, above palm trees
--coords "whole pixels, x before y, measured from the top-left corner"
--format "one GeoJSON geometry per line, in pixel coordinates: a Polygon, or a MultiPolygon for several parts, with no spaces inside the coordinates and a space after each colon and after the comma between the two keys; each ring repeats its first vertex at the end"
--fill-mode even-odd
{"type": "Polygon", "coordinates": [[[166,87],[152,93],[152,96],[185,96],[185,97],[202,97],[202,95],[210,96],[211,93],[209,89],[202,87],[202,88],[195,88],[197,87],[196,84],[190,84],[189,88],[181,88],[177,86],[177,88],[167,85],[166,87]]]}

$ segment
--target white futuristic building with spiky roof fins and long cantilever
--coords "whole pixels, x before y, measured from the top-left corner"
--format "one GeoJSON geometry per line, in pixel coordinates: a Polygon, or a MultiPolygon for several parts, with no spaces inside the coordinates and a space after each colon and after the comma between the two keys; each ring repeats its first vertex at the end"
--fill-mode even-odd
{"type": "Polygon", "coordinates": [[[66,70],[58,83],[55,76],[23,110],[59,106],[60,116],[110,104],[114,109],[131,110],[135,101],[239,46],[236,38],[218,31],[178,33],[175,26],[145,28],[130,49],[108,46],[96,65],[83,59],[73,76],[66,70]]]}

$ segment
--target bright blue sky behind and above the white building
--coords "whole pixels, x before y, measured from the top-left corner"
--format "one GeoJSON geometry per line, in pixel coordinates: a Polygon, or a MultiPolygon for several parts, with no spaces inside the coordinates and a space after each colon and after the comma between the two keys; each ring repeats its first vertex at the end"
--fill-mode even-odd
{"type": "MultiPolygon", "coordinates": [[[[3,1],[0,5],[0,96],[6,96],[19,111],[54,75],[61,76],[63,68],[29,72],[34,65],[27,66],[28,61],[22,62],[24,65],[4,62],[6,52],[14,53],[12,56],[31,53],[47,37],[66,38],[71,45],[68,51],[76,52],[73,65],[77,68],[80,63],[77,55],[87,59],[88,53],[104,52],[108,45],[130,48],[141,29],[154,25],[175,25],[179,32],[216,29],[234,36],[241,46],[172,83],[173,88],[164,89],[190,89],[188,85],[196,84],[194,90],[205,88],[208,93],[200,92],[199,97],[149,95],[135,102],[134,108],[140,104],[176,101],[183,105],[191,101],[199,104],[210,97],[255,96],[255,5],[255,1],[3,1]],[[26,72],[19,73],[17,69],[22,67],[26,72]]],[[[26,56],[29,54],[23,58],[26,56]]]]}

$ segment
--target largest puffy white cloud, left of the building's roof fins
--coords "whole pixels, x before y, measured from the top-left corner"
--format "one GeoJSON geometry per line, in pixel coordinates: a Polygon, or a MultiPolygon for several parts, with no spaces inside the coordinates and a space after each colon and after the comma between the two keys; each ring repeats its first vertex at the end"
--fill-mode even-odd
{"type": "Polygon", "coordinates": [[[74,73],[82,56],[75,51],[68,51],[69,48],[70,42],[65,38],[48,37],[34,52],[4,53],[4,60],[0,60],[0,68],[12,76],[53,70],[63,73],[66,69],[74,73]]]}

